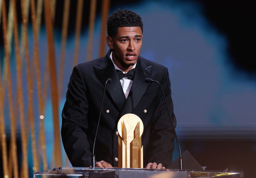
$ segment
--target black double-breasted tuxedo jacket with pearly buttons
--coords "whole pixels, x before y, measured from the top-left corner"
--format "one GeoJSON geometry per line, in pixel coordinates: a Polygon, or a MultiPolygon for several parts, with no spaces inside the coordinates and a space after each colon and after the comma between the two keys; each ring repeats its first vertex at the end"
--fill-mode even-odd
{"type": "MultiPolygon", "coordinates": [[[[106,94],[95,145],[96,160],[104,160],[112,166],[118,162],[118,120],[125,110],[124,92],[108,51],[104,58],[95,59],[74,67],[68,83],[66,103],[62,111],[61,136],[68,159],[74,167],[91,166],[93,141],[98,124],[101,99],[108,78],[106,94]],[[109,112],[106,112],[109,110],[109,112]]],[[[174,125],[170,79],[168,69],[139,57],[129,93],[132,97],[132,113],[140,117],[144,125],[142,145],[144,166],[149,162],[168,166],[172,161],[174,134],[166,110],[161,89],[157,83],[146,83],[145,78],[159,81],[172,115],[174,125]],[[147,112],[143,112],[147,110],[147,112]]]]}

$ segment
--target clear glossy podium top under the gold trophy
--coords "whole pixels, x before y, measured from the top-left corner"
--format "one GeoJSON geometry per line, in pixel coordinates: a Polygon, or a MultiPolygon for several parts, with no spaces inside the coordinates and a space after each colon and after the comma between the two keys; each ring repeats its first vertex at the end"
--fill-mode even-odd
{"type": "Polygon", "coordinates": [[[59,167],[34,173],[34,178],[244,178],[242,171],[59,167]]]}

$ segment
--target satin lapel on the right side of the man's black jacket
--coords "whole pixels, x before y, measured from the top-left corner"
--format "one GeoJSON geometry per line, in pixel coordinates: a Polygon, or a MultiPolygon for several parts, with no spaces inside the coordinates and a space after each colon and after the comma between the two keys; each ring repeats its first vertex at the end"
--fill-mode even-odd
{"type": "MultiPolygon", "coordinates": [[[[151,66],[146,66],[144,61],[139,58],[136,71],[134,75],[134,79],[132,82],[132,102],[133,102],[133,109],[137,106],[140,101],[140,98],[145,93],[146,89],[148,88],[149,83],[145,82],[145,78],[151,77],[151,66]]],[[[130,92],[131,92],[130,91],[130,92]]]]}

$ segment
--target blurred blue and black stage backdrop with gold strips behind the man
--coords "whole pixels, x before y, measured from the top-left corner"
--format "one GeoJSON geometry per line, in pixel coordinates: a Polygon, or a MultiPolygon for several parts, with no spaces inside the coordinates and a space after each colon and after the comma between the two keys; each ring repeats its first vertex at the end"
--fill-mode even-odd
{"type": "Polygon", "coordinates": [[[251,1],[0,0],[0,7],[0,176],[71,166],[60,137],[69,76],[106,54],[106,19],[117,8],[140,14],[140,55],[169,69],[182,152],[208,170],[255,175],[251,1]]]}

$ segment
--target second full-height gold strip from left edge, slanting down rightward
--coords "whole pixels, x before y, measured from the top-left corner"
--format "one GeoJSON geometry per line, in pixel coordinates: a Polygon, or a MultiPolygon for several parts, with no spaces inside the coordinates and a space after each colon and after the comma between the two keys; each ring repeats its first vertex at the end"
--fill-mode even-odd
{"type": "Polygon", "coordinates": [[[13,7],[13,26],[14,26],[14,44],[15,44],[15,56],[16,56],[16,70],[17,70],[17,92],[18,102],[20,110],[20,124],[21,124],[21,148],[22,148],[22,166],[23,166],[23,178],[28,178],[28,153],[27,153],[27,137],[25,130],[25,117],[24,117],[24,105],[23,105],[23,91],[22,91],[22,65],[19,51],[19,36],[18,36],[18,22],[16,12],[16,2],[12,0],[13,7]]]}

